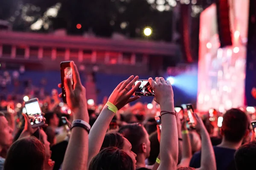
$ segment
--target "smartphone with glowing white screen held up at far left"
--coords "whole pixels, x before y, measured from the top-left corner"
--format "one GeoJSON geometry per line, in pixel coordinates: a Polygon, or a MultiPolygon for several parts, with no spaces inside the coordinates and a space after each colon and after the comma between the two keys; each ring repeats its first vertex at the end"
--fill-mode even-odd
{"type": "Polygon", "coordinates": [[[38,98],[25,102],[25,108],[31,122],[31,127],[34,128],[45,124],[38,98]]]}

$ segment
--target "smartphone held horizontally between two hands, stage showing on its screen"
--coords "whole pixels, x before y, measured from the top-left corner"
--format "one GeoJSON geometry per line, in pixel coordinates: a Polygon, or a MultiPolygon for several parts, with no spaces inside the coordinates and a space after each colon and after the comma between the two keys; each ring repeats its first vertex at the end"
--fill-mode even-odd
{"type": "MultiPolygon", "coordinates": [[[[148,80],[137,80],[134,85],[137,85],[141,82],[140,87],[135,91],[135,96],[154,96],[154,91],[151,85],[149,84],[148,80]]],[[[155,82],[155,80],[154,80],[155,82]]]]}

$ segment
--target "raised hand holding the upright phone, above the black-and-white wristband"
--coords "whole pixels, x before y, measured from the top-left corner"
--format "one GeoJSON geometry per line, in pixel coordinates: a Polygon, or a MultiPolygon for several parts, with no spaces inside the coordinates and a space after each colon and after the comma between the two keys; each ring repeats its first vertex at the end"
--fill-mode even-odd
{"type": "MultiPolygon", "coordinates": [[[[73,112],[79,111],[79,113],[87,111],[87,100],[86,100],[86,90],[81,83],[80,76],[76,64],[72,61],[70,66],[73,71],[74,89],[72,87],[71,79],[65,77],[64,87],[66,89],[67,105],[73,112]]],[[[58,85],[61,88],[61,84],[58,85]]],[[[59,94],[61,96],[61,94],[59,94]]],[[[76,115],[74,115],[76,117],[76,115]]],[[[88,119],[88,115],[78,115],[76,119],[88,119]]]]}

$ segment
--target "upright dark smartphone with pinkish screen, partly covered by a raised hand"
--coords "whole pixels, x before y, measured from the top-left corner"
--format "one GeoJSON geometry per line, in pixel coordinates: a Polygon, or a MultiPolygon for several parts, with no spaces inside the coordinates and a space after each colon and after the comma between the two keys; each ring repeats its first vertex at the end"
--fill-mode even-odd
{"type": "Polygon", "coordinates": [[[73,83],[73,73],[72,68],[70,67],[71,61],[64,61],[61,62],[61,90],[62,90],[62,100],[64,103],[67,103],[67,97],[66,97],[66,89],[64,87],[64,78],[70,78],[72,85],[73,83]]]}

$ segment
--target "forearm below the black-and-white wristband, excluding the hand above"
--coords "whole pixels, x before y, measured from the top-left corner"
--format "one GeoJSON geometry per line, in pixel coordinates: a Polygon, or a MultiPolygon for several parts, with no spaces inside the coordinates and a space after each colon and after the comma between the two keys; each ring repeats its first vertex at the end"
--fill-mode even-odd
{"type": "Polygon", "coordinates": [[[88,133],[82,127],[74,127],[67,145],[62,170],[86,170],[88,159],[88,133]]]}

